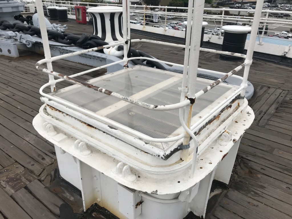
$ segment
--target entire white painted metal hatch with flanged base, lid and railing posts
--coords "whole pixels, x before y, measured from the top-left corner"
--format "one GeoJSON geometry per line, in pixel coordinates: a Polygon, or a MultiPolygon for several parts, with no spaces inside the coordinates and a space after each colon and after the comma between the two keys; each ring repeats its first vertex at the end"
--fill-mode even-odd
{"type": "MultiPolygon", "coordinates": [[[[258,1],[256,26],[262,4],[258,1]]],[[[244,94],[256,30],[251,32],[247,55],[236,54],[246,58],[243,64],[217,81],[199,79],[201,32],[196,30],[202,27],[203,7],[203,0],[189,2],[194,14],[188,14],[192,28],[187,28],[183,46],[190,48],[185,49],[183,74],[127,66],[134,58],[127,57],[126,2],[123,40],[91,49],[124,44],[124,59],[119,62],[125,69],[83,82],[74,77],[94,69],[64,75],[41,67],[85,51],[46,57],[36,64],[60,79],[42,86],[45,105],[33,125],[55,145],[60,174],[81,190],[84,211],[96,202],[119,218],[180,219],[190,211],[204,217],[213,179],[229,182],[239,142],[254,119],[244,94]],[[243,67],[241,86],[222,83],[243,67]],[[46,86],[63,80],[75,85],[44,93],[46,86]]]]}

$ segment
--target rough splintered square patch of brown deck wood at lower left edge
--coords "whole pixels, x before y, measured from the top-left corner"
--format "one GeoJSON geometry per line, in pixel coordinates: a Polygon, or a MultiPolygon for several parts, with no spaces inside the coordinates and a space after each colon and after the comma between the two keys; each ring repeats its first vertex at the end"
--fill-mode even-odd
{"type": "Polygon", "coordinates": [[[35,178],[18,163],[11,164],[0,170],[0,187],[10,196],[34,179],[35,178]]]}

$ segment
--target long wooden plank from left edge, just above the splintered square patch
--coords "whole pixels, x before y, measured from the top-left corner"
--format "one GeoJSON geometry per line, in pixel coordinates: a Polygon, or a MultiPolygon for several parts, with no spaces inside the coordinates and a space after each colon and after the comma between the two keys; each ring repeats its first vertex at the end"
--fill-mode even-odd
{"type": "Polygon", "coordinates": [[[8,154],[10,157],[13,157],[19,164],[26,167],[32,171],[35,175],[39,175],[44,166],[29,157],[22,150],[14,147],[10,142],[0,136],[0,149],[8,154]]]}

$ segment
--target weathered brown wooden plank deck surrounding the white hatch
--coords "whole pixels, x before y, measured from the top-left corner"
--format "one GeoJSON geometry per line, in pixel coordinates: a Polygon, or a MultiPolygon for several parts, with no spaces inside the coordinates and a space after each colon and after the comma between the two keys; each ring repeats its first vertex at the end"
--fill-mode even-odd
{"type": "MultiPolygon", "coordinates": [[[[92,33],[89,25],[67,24],[66,32],[92,33]]],[[[133,34],[134,38],[141,36],[133,34]]],[[[184,51],[179,48],[147,43],[135,43],[133,48],[161,60],[183,64],[184,51]]],[[[43,56],[22,55],[20,58],[0,56],[0,219],[81,218],[79,191],[58,177],[53,146],[32,126],[32,119],[42,105],[39,88],[48,81],[48,76],[34,67],[43,56]]],[[[239,65],[218,57],[218,54],[202,52],[199,66],[228,72],[239,65]]],[[[57,72],[74,73],[88,68],[63,60],[53,64],[57,72]]],[[[241,140],[230,185],[219,194],[206,218],[292,218],[291,70],[253,61],[248,80],[255,93],[249,105],[256,118],[241,140]]],[[[90,75],[83,79],[87,78],[90,75]]],[[[58,88],[65,85],[63,82],[58,88]]],[[[86,218],[112,216],[108,212],[101,216],[91,211],[86,218]]]]}

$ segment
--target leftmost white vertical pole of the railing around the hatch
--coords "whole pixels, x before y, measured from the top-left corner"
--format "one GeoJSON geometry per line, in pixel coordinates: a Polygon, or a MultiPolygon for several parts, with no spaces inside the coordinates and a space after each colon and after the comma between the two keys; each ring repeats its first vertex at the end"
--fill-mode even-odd
{"type": "MultiPolygon", "coordinates": [[[[50,59],[51,58],[51,51],[50,51],[50,45],[49,45],[49,40],[48,40],[44,9],[43,9],[43,4],[42,4],[41,0],[36,0],[36,10],[37,10],[37,14],[39,17],[39,26],[41,29],[41,39],[43,41],[45,58],[50,59]]],[[[52,62],[47,62],[47,69],[50,71],[53,71],[52,62]]],[[[49,74],[49,82],[52,82],[52,81],[55,81],[54,76],[49,74]]],[[[55,90],[56,90],[55,83],[52,83],[51,84],[51,92],[53,92],[55,90]]]]}

